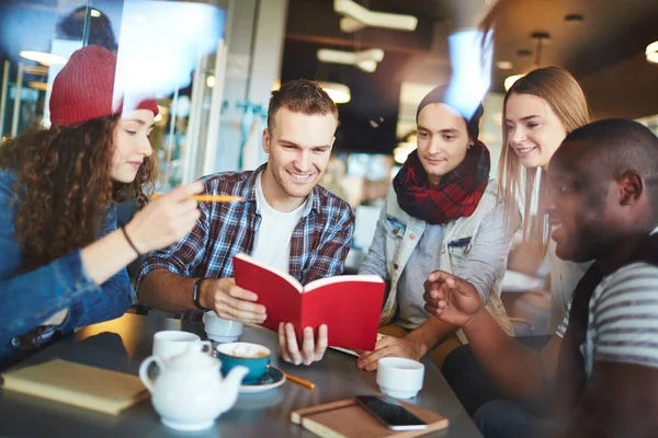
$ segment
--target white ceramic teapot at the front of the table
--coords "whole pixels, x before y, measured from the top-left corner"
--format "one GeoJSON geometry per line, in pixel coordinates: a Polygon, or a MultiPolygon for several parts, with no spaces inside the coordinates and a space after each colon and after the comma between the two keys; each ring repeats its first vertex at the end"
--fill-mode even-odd
{"type": "Polygon", "coordinates": [[[238,399],[248,369],[232,368],[223,378],[219,359],[202,353],[202,348],[203,345],[191,344],[186,353],[166,362],[150,356],[139,367],[139,379],[150,391],[154,408],[167,427],[185,431],[208,428],[238,399]],[[160,376],[155,380],[148,377],[151,362],[160,367],[160,376]]]}

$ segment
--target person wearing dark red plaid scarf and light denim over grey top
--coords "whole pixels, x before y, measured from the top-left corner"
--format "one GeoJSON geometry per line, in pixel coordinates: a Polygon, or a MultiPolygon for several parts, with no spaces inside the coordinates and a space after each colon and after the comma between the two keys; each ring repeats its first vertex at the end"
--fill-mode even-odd
{"type": "Polygon", "coordinates": [[[483,106],[460,114],[445,103],[446,91],[435,88],[418,106],[418,149],[393,181],[359,270],[390,284],[379,330],[389,336],[358,361],[368,371],[386,356],[418,360],[429,354],[441,367],[466,342],[457,326],[423,309],[423,283],[435,269],[468,278],[502,330],[513,334],[500,281],[518,220],[506,219],[497,184],[489,181],[489,151],[478,140],[483,106]]]}

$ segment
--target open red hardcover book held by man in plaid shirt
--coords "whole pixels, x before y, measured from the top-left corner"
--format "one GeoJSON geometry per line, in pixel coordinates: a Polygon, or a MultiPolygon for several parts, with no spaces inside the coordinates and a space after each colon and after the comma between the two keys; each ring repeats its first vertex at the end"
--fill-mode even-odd
{"type": "MultiPolygon", "coordinates": [[[[374,350],[385,283],[376,275],[343,275],[302,286],[294,277],[265,266],[246,254],[234,256],[236,284],[258,295],[268,311],[262,324],[277,331],[280,322],[302,330],[327,324],[329,346],[374,350]]],[[[300,344],[299,344],[300,345],[300,344]]]]}

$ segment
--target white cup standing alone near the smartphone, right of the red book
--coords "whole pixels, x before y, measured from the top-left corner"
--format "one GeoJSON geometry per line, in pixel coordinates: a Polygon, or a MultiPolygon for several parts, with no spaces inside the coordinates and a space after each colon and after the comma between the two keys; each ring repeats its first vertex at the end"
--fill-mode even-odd
{"type": "Polygon", "coordinates": [[[379,391],[397,399],[411,399],[422,388],[424,367],[401,357],[385,357],[377,361],[379,391]]]}

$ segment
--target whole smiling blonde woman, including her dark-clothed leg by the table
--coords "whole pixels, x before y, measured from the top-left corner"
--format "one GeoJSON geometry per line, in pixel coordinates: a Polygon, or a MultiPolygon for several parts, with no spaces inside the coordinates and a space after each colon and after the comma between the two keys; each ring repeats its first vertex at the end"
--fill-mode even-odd
{"type": "MultiPolygon", "coordinates": [[[[504,96],[502,115],[504,147],[498,169],[498,195],[504,199],[508,220],[521,204],[523,240],[536,243],[540,257],[547,253],[551,258],[553,308],[547,334],[553,335],[565,316],[574,288],[590,263],[575,264],[555,255],[555,243],[548,241],[548,224],[542,212],[542,198],[546,193],[544,176],[567,134],[589,122],[588,106],[582,90],[568,71],[546,67],[514,82],[504,96]],[[531,212],[535,205],[538,208],[533,217],[531,212]]],[[[530,348],[541,349],[547,337],[531,336],[519,341],[530,348]]],[[[556,345],[548,344],[546,348],[556,348],[556,345]]],[[[553,368],[546,371],[552,374],[553,368]]],[[[468,346],[452,351],[442,371],[470,414],[490,400],[504,399],[468,346]]]]}

